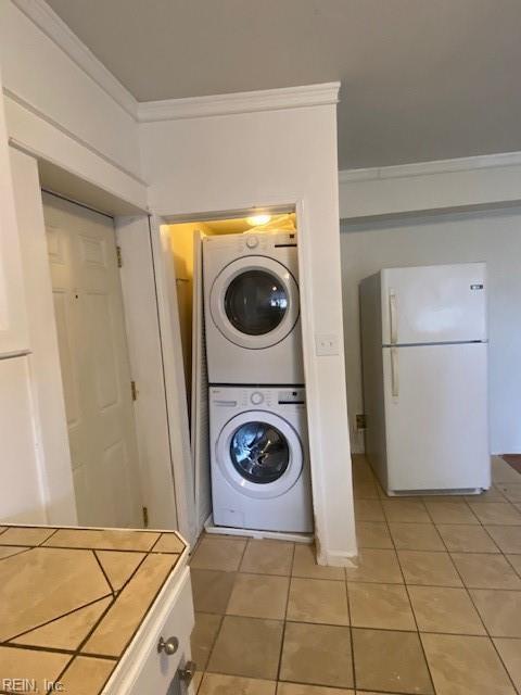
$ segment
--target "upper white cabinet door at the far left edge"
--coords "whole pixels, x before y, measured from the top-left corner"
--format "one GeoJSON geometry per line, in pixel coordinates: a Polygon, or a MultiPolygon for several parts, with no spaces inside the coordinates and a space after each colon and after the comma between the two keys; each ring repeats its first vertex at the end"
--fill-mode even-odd
{"type": "Polygon", "coordinates": [[[18,230],[0,76],[0,357],[28,352],[18,230]]]}

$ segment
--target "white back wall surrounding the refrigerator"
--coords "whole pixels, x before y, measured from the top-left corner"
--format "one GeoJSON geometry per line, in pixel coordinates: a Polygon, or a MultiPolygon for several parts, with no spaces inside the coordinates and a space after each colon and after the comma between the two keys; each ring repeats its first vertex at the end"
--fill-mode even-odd
{"type": "MultiPolygon", "coordinates": [[[[347,400],[363,413],[358,282],[380,268],[485,261],[493,453],[521,453],[521,208],[341,226],[347,400]]],[[[363,451],[363,438],[353,438],[363,451]]]]}

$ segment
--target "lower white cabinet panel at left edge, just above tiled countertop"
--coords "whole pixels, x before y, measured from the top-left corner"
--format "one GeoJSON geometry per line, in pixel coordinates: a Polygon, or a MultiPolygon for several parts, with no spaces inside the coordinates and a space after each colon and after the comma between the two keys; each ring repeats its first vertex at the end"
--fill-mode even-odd
{"type": "Polygon", "coordinates": [[[0,359],[0,522],[46,522],[37,466],[28,359],[0,359]]]}

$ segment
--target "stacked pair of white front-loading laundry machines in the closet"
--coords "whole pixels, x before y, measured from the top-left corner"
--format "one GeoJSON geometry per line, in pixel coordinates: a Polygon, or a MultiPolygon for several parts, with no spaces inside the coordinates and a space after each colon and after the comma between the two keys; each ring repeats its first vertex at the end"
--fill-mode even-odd
{"type": "Polygon", "coordinates": [[[214,525],[313,530],[296,233],[203,240],[214,525]]]}

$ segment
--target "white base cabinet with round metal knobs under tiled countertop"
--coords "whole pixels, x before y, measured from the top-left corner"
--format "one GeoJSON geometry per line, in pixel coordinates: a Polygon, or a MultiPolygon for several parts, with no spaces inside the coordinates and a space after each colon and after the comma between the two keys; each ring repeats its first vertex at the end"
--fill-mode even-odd
{"type": "Polygon", "coordinates": [[[103,695],[191,695],[190,570],[177,568],[106,684],[103,695]]]}

